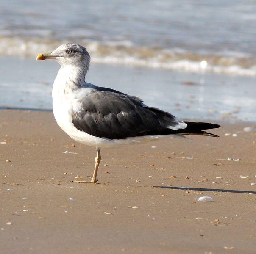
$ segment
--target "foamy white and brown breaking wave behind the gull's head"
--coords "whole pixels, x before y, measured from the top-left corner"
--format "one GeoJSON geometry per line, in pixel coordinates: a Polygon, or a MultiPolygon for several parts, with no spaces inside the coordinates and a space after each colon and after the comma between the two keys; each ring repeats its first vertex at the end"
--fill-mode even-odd
{"type": "MultiPolygon", "coordinates": [[[[0,55],[36,57],[41,52],[54,50],[67,41],[42,41],[0,37],[0,55]]],[[[78,41],[86,46],[92,62],[126,64],[185,70],[188,72],[215,72],[230,75],[256,75],[256,61],[241,53],[212,55],[191,52],[181,48],[138,47],[130,41],[78,41]]]]}

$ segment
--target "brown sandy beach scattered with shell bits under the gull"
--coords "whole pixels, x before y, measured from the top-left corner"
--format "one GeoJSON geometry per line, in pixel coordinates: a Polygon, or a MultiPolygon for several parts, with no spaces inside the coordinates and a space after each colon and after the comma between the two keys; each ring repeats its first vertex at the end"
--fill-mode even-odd
{"type": "Polygon", "coordinates": [[[98,183],[74,184],[92,176],[95,149],[50,112],[0,110],[0,253],[255,253],[256,133],[245,126],[102,149],[98,183]],[[217,160],[228,157],[241,160],[217,160]]]}

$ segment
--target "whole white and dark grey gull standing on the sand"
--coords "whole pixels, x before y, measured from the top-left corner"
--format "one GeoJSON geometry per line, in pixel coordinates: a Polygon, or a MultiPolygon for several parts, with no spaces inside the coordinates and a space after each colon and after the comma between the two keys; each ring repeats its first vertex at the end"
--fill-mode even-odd
{"type": "Polygon", "coordinates": [[[87,83],[90,55],[79,44],[63,44],[36,57],[45,59],[54,59],[61,65],[52,91],[57,124],[75,141],[97,150],[91,181],[73,182],[97,182],[102,147],[182,135],[218,137],[204,130],[218,128],[219,124],[181,121],[168,112],[145,105],[139,97],[87,83]]]}

